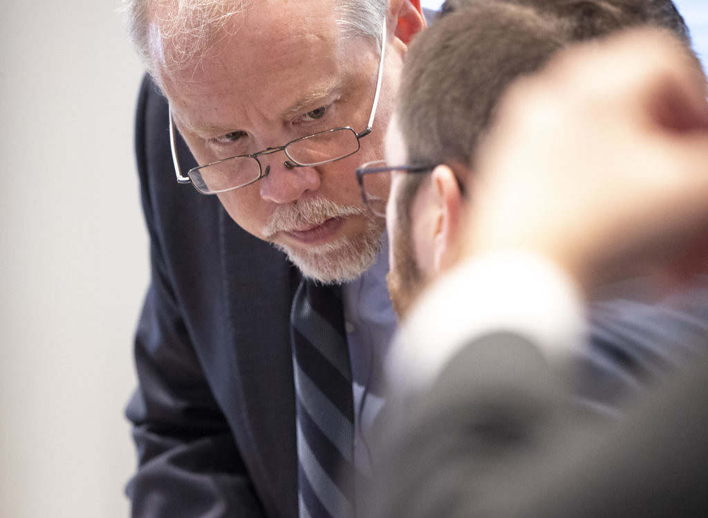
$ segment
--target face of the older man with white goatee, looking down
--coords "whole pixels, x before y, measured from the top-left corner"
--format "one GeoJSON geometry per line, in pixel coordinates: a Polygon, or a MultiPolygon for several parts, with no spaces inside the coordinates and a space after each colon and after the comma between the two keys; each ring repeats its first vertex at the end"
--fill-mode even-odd
{"type": "MultiPolygon", "coordinates": [[[[365,38],[344,40],[336,0],[263,0],[229,21],[206,55],[160,79],[175,123],[199,164],[284,145],[329,128],[365,128],[374,100],[378,52],[365,38]]],[[[287,252],[304,274],[342,281],[372,264],[383,223],[362,206],[353,171],[382,156],[401,49],[389,45],[371,135],[350,157],[287,169],[282,152],[261,157],[270,174],[219,194],[244,230],[287,252]]],[[[382,185],[382,191],[384,186],[382,185]]]]}

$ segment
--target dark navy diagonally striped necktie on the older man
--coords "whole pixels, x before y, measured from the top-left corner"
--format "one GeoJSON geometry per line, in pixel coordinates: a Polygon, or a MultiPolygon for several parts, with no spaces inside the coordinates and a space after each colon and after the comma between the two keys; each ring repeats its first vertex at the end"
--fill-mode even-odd
{"type": "Polygon", "coordinates": [[[290,313],[300,518],[353,517],[354,408],[341,288],[303,280],[290,313]]]}

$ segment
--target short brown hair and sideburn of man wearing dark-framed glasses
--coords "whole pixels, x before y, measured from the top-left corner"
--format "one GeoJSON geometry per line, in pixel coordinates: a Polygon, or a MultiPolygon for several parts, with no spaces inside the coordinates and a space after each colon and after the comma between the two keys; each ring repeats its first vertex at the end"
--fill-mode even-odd
{"type": "MultiPolygon", "coordinates": [[[[406,55],[396,118],[409,162],[467,165],[503,89],[566,45],[552,16],[506,1],[472,2],[416,36],[406,55]]],[[[408,175],[396,200],[401,225],[425,175],[408,175]]]]}

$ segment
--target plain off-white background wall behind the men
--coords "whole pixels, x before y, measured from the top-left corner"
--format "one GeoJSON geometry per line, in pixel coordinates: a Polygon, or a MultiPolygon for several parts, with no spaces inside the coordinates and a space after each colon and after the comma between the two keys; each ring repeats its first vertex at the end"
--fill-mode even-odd
{"type": "MultiPolygon", "coordinates": [[[[678,4],[707,56],[707,3],[678,4]]],[[[128,515],[122,411],[148,250],[132,153],[142,68],[115,7],[2,2],[3,518],[128,515]]]]}

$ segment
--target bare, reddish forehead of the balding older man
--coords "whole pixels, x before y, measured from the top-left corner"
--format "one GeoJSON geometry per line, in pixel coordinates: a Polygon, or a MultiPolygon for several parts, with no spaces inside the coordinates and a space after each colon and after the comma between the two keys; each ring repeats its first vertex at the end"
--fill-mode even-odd
{"type": "Polygon", "coordinates": [[[198,57],[177,66],[163,54],[161,82],[173,110],[181,119],[231,119],[229,106],[277,112],[331,89],[359,59],[339,38],[333,1],[253,2],[198,57]]]}

